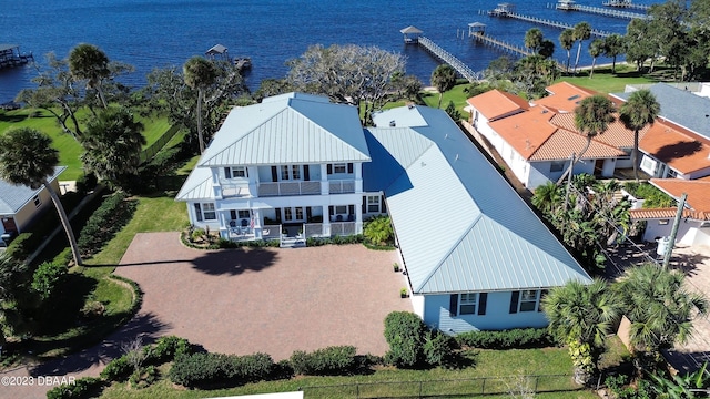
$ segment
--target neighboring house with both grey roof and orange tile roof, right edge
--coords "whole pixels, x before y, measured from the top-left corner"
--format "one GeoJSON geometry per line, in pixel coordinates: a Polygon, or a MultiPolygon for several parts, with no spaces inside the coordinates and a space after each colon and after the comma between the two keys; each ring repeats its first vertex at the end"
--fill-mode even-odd
{"type": "MultiPolygon", "coordinates": [[[[660,104],[657,122],[639,142],[640,168],[652,177],[710,175],[710,99],[667,83],[645,86],[660,104]]],[[[611,94],[626,101],[636,90],[611,94]]]]}

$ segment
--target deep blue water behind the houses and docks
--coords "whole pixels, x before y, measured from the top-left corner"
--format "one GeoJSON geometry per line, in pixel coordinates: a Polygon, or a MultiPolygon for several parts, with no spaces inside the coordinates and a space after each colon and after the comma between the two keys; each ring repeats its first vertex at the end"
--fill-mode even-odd
{"type": "MultiPolygon", "coordinates": [[[[639,3],[651,0],[636,0],[639,3]]],[[[266,78],[283,78],[285,62],[308,45],[333,43],[377,45],[407,57],[407,72],[428,84],[437,62],[415,45],[405,47],[399,30],[415,25],[424,34],[475,71],[504,53],[460,39],[470,22],[486,23],[487,33],[523,44],[534,24],[496,19],[479,12],[495,8],[497,0],[21,0],[0,9],[0,42],[20,45],[36,61],[53,51],[65,58],[81,42],[100,47],[111,60],[135,66],[122,81],[139,86],[154,68],[182,65],[214,44],[229,48],[232,57],[252,58],[247,74],[252,90],[266,78]]],[[[579,0],[601,7],[602,0],[579,0]]],[[[554,0],[516,3],[517,11],[575,24],[623,33],[628,20],[582,12],[564,12],[554,0]]],[[[538,27],[559,47],[560,30],[538,27]]],[[[580,64],[590,64],[585,43],[580,64]]],[[[555,58],[566,53],[557,49],[555,58]]],[[[574,54],[572,54],[574,62],[574,54]]],[[[598,62],[610,62],[599,58],[598,62]]],[[[23,88],[31,88],[37,71],[31,65],[0,70],[0,103],[23,88]]]]}

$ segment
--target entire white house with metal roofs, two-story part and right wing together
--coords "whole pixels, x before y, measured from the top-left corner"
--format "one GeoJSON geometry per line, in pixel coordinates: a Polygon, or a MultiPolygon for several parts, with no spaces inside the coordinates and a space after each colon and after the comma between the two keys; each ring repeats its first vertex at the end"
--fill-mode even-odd
{"type": "Polygon", "coordinates": [[[232,239],[292,225],[354,234],[387,213],[414,309],[447,332],[545,326],[547,289],[590,282],[444,111],[403,106],[373,120],[363,129],[356,109],[295,93],[235,109],[178,200],[193,224],[232,239]],[[232,216],[246,226],[233,233],[232,216]]]}

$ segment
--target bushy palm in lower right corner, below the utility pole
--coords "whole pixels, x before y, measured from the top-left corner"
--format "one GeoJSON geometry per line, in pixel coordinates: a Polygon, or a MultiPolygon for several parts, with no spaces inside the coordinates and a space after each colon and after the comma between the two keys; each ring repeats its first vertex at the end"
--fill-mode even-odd
{"type": "Polygon", "coordinates": [[[616,287],[631,321],[633,347],[658,358],[660,349],[684,344],[693,332],[691,318],[708,314],[708,299],[684,287],[686,276],[655,264],[626,272],[616,287]]]}

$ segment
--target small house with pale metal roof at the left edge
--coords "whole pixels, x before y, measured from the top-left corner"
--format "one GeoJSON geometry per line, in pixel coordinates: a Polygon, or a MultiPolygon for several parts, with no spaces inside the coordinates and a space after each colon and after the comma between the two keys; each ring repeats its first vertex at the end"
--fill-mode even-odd
{"type": "MultiPolygon", "coordinates": [[[[59,193],[59,175],[67,166],[54,167],[49,182],[59,193]]],[[[53,207],[44,187],[32,190],[26,185],[13,185],[0,180],[0,235],[18,235],[32,224],[45,208],[53,207]]]]}

